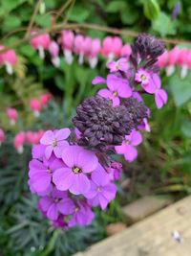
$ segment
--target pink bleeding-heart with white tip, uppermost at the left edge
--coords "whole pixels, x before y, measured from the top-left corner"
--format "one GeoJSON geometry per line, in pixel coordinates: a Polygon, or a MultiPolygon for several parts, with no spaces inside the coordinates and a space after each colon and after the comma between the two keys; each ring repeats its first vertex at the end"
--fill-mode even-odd
{"type": "MultiPolygon", "coordinates": [[[[3,50],[4,46],[0,45],[0,50],[3,50]]],[[[8,50],[5,53],[0,54],[0,64],[3,64],[6,66],[6,70],[8,74],[12,74],[12,66],[16,64],[17,58],[14,50],[8,50]]]]}

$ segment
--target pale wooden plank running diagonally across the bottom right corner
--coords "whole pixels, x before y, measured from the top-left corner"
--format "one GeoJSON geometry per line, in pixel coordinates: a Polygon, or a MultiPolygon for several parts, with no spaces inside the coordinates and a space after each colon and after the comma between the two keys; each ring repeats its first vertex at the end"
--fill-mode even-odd
{"type": "Polygon", "coordinates": [[[191,256],[191,196],[74,256],[191,256]],[[181,242],[173,238],[180,233],[181,242]]]}

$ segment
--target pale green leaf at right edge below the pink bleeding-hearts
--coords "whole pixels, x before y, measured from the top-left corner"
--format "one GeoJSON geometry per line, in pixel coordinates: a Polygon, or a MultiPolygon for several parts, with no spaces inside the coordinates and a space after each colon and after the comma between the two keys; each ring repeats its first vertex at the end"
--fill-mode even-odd
{"type": "Polygon", "coordinates": [[[190,72],[184,80],[180,79],[177,73],[170,78],[169,86],[177,106],[183,105],[191,99],[190,81],[190,72]]]}

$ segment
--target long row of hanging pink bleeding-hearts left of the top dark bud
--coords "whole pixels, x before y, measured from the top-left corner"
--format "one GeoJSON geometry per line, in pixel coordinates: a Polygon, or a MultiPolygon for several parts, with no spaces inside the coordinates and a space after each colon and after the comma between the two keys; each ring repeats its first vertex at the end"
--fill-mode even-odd
{"type": "MultiPolygon", "coordinates": [[[[35,35],[34,32],[33,34],[35,35]]],[[[130,45],[123,45],[121,38],[118,36],[106,36],[101,43],[99,38],[74,35],[73,31],[62,31],[57,42],[52,40],[48,34],[36,35],[32,38],[31,45],[33,49],[38,51],[40,58],[45,58],[45,51],[48,51],[55,67],[60,64],[59,48],[61,48],[68,64],[71,64],[74,55],[77,55],[79,64],[82,64],[86,59],[91,68],[96,67],[99,54],[107,58],[108,61],[131,55],[130,45]]]]}

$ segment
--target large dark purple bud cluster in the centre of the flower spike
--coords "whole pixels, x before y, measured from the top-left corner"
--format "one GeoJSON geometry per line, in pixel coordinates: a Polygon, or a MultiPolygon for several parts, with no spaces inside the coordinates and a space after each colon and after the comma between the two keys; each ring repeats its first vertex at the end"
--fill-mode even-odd
{"type": "Polygon", "coordinates": [[[98,95],[86,99],[76,112],[73,123],[82,133],[78,143],[91,148],[120,145],[147,116],[146,107],[134,98],[114,107],[111,100],[98,95]]]}

